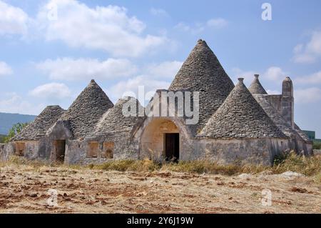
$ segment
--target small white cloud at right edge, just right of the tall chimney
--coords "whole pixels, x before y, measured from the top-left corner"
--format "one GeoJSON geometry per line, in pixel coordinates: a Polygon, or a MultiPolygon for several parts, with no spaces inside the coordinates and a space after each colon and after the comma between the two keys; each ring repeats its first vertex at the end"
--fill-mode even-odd
{"type": "Polygon", "coordinates": [[[321,100],[321,89],[317,87],[295,89],[294,97],[299,104],[315,103],[321,100]]]}

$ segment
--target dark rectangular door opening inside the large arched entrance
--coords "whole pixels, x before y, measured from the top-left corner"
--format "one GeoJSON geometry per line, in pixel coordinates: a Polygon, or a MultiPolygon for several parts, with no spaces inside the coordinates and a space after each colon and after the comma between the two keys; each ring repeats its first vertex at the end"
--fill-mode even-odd
{"type": "Polygon", "coordinates": [[[180,157],[180,134],[165,133],[165,161],[178,162],[180,157]]]}

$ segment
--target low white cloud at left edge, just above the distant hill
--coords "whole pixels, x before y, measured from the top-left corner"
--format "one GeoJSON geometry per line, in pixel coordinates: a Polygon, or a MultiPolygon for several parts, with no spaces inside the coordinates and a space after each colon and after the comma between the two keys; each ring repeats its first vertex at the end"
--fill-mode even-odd
{"type": "Polygon", "coordinates": [[[38,115],[44,107],[44,104],[30,103],[16,93],[6,94],[0,99],[1,112],[38,115]]]}

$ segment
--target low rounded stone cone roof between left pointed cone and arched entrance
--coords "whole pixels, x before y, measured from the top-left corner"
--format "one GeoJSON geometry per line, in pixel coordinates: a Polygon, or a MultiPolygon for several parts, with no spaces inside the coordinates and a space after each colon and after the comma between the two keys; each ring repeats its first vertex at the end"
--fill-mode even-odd
{"type": "Polygon", "coordinates": [[[96,124],[93,136],[115,133],[131,132],[133,127],[144,117],[144,108],[140,102],[131,96],[117,101],[113,108],[108,109],[101,120],[96,124]]]}

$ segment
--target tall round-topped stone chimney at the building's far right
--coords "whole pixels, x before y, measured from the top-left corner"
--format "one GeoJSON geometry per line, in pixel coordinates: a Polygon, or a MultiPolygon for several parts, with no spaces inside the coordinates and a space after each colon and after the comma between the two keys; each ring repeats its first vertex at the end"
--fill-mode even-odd
{"type": "Polygon", "coordinates": [[[288,76],[282,82],[281,114],[283,119],[294,129],[293,84],[288,76]]]}

